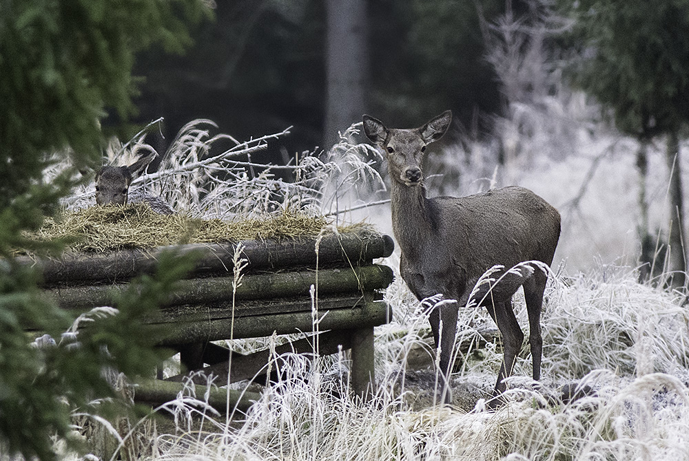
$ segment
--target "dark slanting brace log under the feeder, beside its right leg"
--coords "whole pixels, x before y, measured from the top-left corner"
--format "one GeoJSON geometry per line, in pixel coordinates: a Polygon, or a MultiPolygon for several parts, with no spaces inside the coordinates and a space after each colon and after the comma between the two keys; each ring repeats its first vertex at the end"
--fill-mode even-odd
{"type": "MultiPolygon", "coordinates": [[[[342,350],[351,347],[351,339],[353,332],[351,330],[345,331],[329,331],[322,332],[318,337],[318,352],[320,355],[336,354],[342,346],[342,350]]],[[[314,342],[316,338],[309,336],[307,338],[292,341],[291,343],[281,344],[275,347],[276,356],[281,356],[287,352],[294,352],[295,354],[311,354],[313,353],[314,342]]],[[[237,381],[257,378],[258,380],[265,379],[267,372],[267,363],[271,357],[269,349],[260,350],[247,355],[240,355],[232,352],[232,372],[229,376],[230,383],[237,381]]],[[[184,378],[190,378],[192,382],[203,384],[206,382],[206,376],[219,376],[220,380],[216,381],[217,385],[227,383],[227,374],[229,370],[229,350],[225,352],[225,360],[218,362],[215,365],[209,365],[203,368],[203,375],[194,372],[187,372],[170,376],[169,381],[181,382],[184,378]]]]}

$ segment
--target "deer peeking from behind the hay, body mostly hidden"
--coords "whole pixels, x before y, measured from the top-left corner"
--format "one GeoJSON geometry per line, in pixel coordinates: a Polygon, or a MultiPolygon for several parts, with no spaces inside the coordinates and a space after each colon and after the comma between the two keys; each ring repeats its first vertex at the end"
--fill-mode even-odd
{"type": "Polygon", "coordinates": [[[172,215],[174,210],[161,197],[129,191],[132,180],[156,158],[152,152],[141,156],[136,162],[125,167],[105,166],[96,174],[96,204],[125,205],[127,202],[146,202],[153,211],[161,215],[172,215]]]}

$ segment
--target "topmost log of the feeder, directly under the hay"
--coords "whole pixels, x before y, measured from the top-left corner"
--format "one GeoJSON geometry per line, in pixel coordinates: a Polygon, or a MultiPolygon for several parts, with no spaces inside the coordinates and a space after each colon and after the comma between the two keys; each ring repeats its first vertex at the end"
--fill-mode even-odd
{"type": "MultiPolygon", "coordinates": [[[[315,239],[249,240],[242,257],[249,261],[247,270],[276,270],[295,266],[315,267],[315,239]]],[[[56,283],[115,283],[142,273],[153,272],[161,253],[198,255],[191,277],[195,275],[232,274],[232,260],[238,244],[188,244],[160,246],[148,250],[122,250],[107,255],[66,254],[59,259],[17,257],[20,264],[38,268],[46,285],[56,283]]],[[[358,266],[392,254],[393,240],[365,230],[340,235],[326,235],[320,242],[318,261],[321,267],[331,264],[358,266]]]]}

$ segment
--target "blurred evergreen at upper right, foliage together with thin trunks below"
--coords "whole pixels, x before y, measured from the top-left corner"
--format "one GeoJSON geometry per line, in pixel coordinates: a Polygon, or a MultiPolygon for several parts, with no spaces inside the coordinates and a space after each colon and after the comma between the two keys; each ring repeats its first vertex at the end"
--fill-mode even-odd
{"type": "MultiPolygon", "coordinates": [[[[617,129],[641,140],[636,164],[642,177],[648,169],[645,144],[668,135],[667,248],[672,251],[667,266],[672,272],[670,285],[686,288],[679,132],[689,122],[689,0],[562,0],[560,4],[575,19],[568,34],[578,51],[569,70],[573,82],[595,96],[617,129]]],[[[646,244],[655,238],[648,230],[643,186],[639,210],[641,261],[652,267],[657,254],[646,244]]]]}

